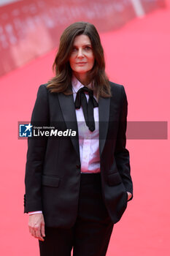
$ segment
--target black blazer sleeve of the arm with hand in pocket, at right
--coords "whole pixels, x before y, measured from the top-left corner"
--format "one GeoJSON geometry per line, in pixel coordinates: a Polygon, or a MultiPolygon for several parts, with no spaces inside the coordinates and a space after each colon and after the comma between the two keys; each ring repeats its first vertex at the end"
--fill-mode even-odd
{"type": "MultiPolygon", "coordinates": [[[[127,114],[128,114],[128,101],[125,94],[124,86],[122,88],[122,108],[120,110],[120,122],[117,132],[117,140],[115,146],[115,161],[117,170],[123,180],[126,191],[131,192],[133,198],[133,183],[131,180],[131,167],[128,149],[126,145],[126,127],[127,127],[127,114]]],[[[129,200],[128,200],[129,201],[129,200]]]]}

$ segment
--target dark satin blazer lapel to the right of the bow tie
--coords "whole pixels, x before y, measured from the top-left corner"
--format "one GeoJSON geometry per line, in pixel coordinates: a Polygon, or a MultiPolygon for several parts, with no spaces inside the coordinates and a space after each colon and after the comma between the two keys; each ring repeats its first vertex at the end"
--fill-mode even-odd
{"type": "Polygon", "coordinates": [[[108,129],[108,125],[109,125],[109,105],[110,105],[110,98],[100,97],[100,99],[98,101],[100,156],[104,149],[104,143],[107,138],[107,129],[108,129]]]}

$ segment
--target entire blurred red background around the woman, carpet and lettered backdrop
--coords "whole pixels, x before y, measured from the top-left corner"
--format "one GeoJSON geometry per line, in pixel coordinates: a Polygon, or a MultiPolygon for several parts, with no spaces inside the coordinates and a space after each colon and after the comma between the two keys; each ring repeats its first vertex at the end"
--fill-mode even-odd
{"type": "MultiPolygon", "coordinates": [[[[134,199],[113,230],[107,256],[169,256],[170,0],[0,0],[0,253],[39,255],[23,214],[27,140],[37,89],[53,77],[63,29],[93,23],[104,47],[109,80],[125,86],[134,199]],[[147,129],[149,138],[133,137],[147,129]],[[132,136],[130,136],[132,132],[132,136]]],[[[87,255],[88,256],[88,255],[87,255]]]]}

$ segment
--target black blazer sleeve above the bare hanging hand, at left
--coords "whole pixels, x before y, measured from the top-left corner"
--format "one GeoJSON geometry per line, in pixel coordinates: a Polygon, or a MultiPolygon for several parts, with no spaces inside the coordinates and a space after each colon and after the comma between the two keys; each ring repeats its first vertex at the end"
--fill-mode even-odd
{"type": "MultiPolygon", "coordinates": [[[[49,105],[45,85],[39,86],[31,115],[31,124],[34,126],[46,126],[49,124],[49,105]]],[[[28,138],[25,176],[26,194],[24,195],[25,213],[42,211],[41,180],[46,146],[47,138],[28,138]]]]}

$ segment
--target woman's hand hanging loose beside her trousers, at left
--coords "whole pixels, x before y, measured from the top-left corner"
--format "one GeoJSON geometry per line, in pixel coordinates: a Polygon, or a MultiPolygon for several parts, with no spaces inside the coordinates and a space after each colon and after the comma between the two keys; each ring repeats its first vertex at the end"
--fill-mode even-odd
{"type": "Polygon", "coordinates": [[[45,219],[43,214],[31,214],[28,220],[29,232],[40,241],[45,241],[45,219]]]}

